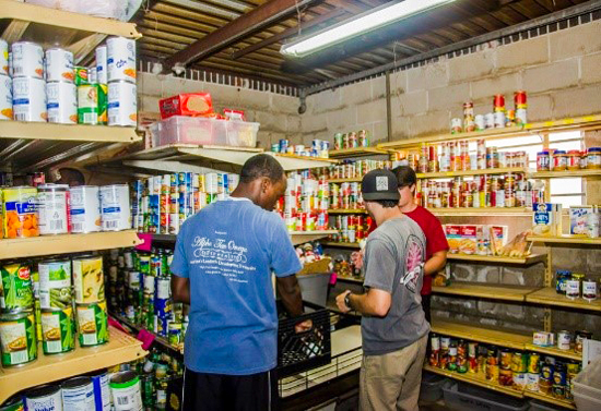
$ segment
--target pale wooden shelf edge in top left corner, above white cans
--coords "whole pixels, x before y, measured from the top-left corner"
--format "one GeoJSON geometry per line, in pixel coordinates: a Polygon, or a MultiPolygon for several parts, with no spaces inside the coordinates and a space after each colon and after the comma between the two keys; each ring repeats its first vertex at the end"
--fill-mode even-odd
{"type": "Polygon", "coordinates": [[[86,14],[49,9],[35,4],[0,0],[0,20],[17,20],[55,27],[70,28],[85,33],[98,33],[108,36],[140,38],[135,24],[114,19],[95,17],[86,14]]]}

